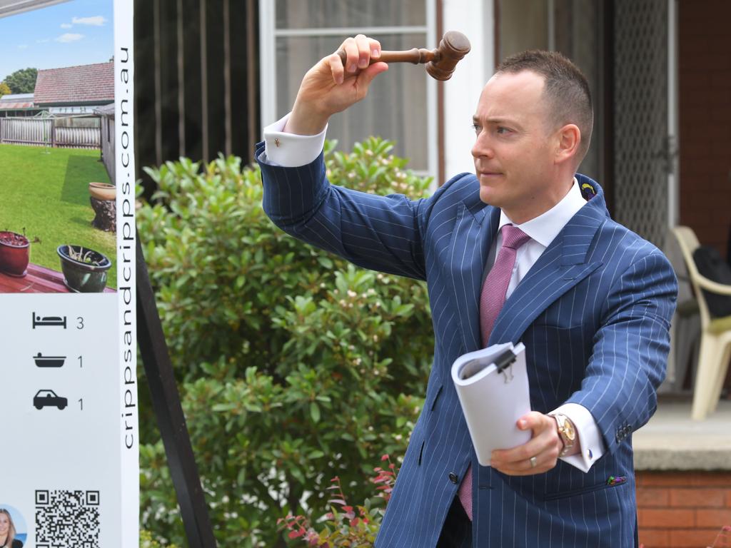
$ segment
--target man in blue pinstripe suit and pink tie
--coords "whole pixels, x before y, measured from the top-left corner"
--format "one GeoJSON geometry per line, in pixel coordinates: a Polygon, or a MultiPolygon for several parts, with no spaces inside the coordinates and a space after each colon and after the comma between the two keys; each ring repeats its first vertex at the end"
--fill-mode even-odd
{"type": "Polygon", "coordinates": [[[477,104],[475,174],[419,201],[377,197],[325,178],[327,120],[387,70],[369,66],[374,39],[342,48],[345,64],[328,56],[307,72],[257,159],[279,227],[428,283],[434,362],[376,547],[637,546],[631,434],[656,408],[677,286],[662,253],[575,173],[591,138],[586,78],[558,53],[508,58],[477,104]],[[531,439],[483,467],[450,366],[519,340],[533,411],[518,428],[531,439]]]}

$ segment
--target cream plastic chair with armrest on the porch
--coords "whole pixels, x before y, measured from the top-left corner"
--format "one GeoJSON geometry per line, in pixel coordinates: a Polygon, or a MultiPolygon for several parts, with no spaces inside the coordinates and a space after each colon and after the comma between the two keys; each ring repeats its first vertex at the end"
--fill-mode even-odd
{"type": "Polygon", "coordinates": [[[717,283],[700,275],[693,260],[693,251],[700,247],[700,243],[692,229],[675,227],[673,234],[678,238],[678,244],[683,251],[683,258],[688,267],[688,274],[700,309],[700,355],[691,416],[694,420],[703,420],[708,414],[716,411],[719,397],[721,397],[721,388],[731,358],[731,316],[712,318],[708,313],[708,304],[705,302],[705,295],[701,289],[731,296],[731,285],[717,283]]]}

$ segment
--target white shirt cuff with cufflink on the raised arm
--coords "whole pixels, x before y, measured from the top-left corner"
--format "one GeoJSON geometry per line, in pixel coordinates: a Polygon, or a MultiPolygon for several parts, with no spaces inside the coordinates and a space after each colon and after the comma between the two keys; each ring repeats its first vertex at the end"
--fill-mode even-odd
{"type": "MultiPolygon", "coordinates": [[[[289,113],[292,114],[292,113],[289,113]]],[[[311,164],[325,146],[327,126],[317,135],[284,132],[289,114],[264,128],[264,154],[269,164],[300,167],[311,164]]]]}

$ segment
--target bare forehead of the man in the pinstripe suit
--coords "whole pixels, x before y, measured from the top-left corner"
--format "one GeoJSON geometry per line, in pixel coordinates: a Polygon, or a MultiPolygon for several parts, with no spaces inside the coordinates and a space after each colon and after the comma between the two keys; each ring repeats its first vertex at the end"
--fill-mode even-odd
{"type": "Polygon", "coordinates": [[[542,118],[544,79],[535,72],[499,73],[491,77],[477,103],[478,118],[527,121],[542,118]]]}

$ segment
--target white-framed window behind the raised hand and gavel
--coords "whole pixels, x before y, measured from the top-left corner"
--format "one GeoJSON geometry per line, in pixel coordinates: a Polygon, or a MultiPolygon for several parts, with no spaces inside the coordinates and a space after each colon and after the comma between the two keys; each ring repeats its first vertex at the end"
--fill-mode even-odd
{"type": "MultiPolygon", "coordinates": [[[[348,36],[385,50],[436,47],[435,0],[271,0],[260,7],[262,125],[292,108],[306,70],[348,36]]],[[[392,64],[368,98],[330,119],[327,137],[349,150],[370,135],[394,140],[409,167],[436,175],[436,82],[423,67],[392,64]]]]}

